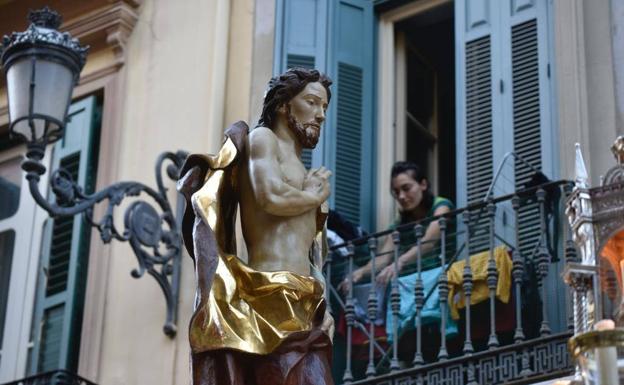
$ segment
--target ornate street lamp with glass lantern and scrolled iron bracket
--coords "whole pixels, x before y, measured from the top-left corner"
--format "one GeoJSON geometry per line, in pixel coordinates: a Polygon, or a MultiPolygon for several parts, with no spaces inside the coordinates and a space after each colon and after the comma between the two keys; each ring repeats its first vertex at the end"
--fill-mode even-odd
{"type": "Polygon", "coordinates": [[[74,86],[86,61],[88,47],[81,46],[67,32],[58,31],[61,17],[48,7],[31,11],[31,24],[24,32],[4,36],[0,58],[7,77],[9,130],[13,138],[26,143],[26,160],[22,169],[30,192],[39,206],[58,218],[85,215],[96,227],[104,243],[112,239],[128,241],[139,267],[132,276],[147,272],[160,285],[167,301],[164,332],[176,333],[176,316],[180,276],[182,237],[162,178],[162,165],[168,160],[168,176],[176,180],[186,153],[162,153],[156,162],[157,190],[138,182],[119,182],[94,194],[85,194],[69,172],[52,172],[50,185],[56,202],[48,201],[39,191],[39,180],[46,167],[41,163],[45,148],[63,137],[74,86]],[[149,195],[157,210],[145,201],[135,201],[124,215],[124,229],[113,221],[115,206],[127,196],[149,195]],[[93,218],[93,207],[107,201],[108,207],[99,220],[93,218]],[[159,214],[160,211],[160,214],[159,214]]]}

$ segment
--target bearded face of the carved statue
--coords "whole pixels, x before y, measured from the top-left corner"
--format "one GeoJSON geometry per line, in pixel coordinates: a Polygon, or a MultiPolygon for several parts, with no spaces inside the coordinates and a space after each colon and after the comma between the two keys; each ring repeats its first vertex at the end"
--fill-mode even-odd
{"type": "Polygon", "coordinates": [[[326,110],[327,90],[319,82],[308,83],[286,106],[288,127],[303,148],[316,147],[326,110]]]}

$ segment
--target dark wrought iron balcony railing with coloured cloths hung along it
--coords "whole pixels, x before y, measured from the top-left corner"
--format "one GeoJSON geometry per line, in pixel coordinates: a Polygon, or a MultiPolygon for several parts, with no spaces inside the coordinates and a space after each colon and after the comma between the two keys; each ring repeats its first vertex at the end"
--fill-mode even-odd
{"type": "Polygon", "coordinates": [[[559,274],[577,258],[562,209],[571,189],[550,182],[333,245],[324,273],[338,380],[520,384],[572,373],[571,302],[559,274]],[[427,245],[433,220],[440,238],[427,245]],[[399,271],[406,247],[420,257],[399,271]],[[384,256],[395,278],[380,287],[373,277],[384,256]],[[370,276],[354,284],[353,271],[366,263],[370,276]],[[565,316],[550,319],[557,306],[565,316]]]}

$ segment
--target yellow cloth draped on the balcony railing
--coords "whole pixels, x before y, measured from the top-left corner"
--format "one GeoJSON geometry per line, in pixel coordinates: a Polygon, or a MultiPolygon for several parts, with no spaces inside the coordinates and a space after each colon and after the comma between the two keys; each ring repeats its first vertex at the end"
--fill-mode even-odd
{"type": "MultiPolygon", "coordinates": [[[[490,290],[487,286],[487,267],[490,259],[490,251],[484,251],[470,256],[470,268],[472,269],[472,292],[470,304],[475,305],[490,298],[490,290]]],[[[512,262],[507,254],[505,246],[494,249],[494,261],[498,279],[496,282],[496,298],[501,302],[509,302],[511,291],[511,268],[512,262]]],[[[455,262],[448,270],[449,283],[449,310],[454,319],[459,318],[459,309],[466,307],[464,288],[462,287],[464,267],[466,260],[455,262]]]]}

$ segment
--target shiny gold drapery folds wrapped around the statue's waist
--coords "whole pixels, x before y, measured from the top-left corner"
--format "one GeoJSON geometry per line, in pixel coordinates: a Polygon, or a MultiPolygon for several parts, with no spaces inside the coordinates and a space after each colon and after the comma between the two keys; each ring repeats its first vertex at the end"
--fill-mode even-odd
{"type": "Polygon", "coordinates": [[[233,255],[224,256],[207,303],[191,319],[191,348],[268,354],[290,334],[322,322],[324,313],[323,287],[314,278],[259,272],[233,255]]]}

